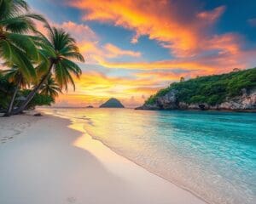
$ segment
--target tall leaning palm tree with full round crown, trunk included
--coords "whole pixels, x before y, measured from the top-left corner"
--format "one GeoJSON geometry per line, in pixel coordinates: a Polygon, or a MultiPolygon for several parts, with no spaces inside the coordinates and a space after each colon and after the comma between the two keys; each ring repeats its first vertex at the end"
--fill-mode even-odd
{"type": "Polygon", "coordinates": [[[38,72],[43,72],[38,85],[32,89],[31,93],[27,95],[26,101],[24,101],[14,114],[18,114],[26,109],[26,105],[32,100],[34,95],[43,87],[48,77],[54,73],[55,81],[61,89],[65,88],[67,91],[68,83],[73,85],[73,76],[79,77],[82,74],[79,65],[73,62],[72,59],[76,59],[80,62],[84,62],[84,57],[79,53],[79,48],[75,44],[75,40],[66,31],[57,28],[51,28],[46,25],[49,31],[49,37],[45,37],[43,34],[39,34],[39,37],[34,37],[34,40],[38,42],[40,49],[40,56],[42,63],[38,65],[38,72]]]}

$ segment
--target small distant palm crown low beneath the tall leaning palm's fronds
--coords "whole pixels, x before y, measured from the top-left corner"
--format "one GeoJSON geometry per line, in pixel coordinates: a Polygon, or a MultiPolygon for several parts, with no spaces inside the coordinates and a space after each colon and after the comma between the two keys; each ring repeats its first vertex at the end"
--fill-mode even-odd
{"type": "Polygon", "coordinates": [[[49,95],[52,99],[55,99],[56,96],[61,93],[61,88],[59,85],[55,82],[54,78],[52,76],[49,76],[44,82],[40,94],[49,95]]]}

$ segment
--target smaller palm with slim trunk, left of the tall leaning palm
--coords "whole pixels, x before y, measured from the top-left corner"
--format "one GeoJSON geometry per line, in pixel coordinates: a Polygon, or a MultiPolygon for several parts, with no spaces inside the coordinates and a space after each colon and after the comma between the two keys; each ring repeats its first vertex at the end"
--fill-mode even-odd
{"type": "Polygon", "coordinates": [[[6,79],[8,79],[9,82],[15,85],[14,93],[12,94],[8,109],[4,115],[10,116],[18,91],[20,90],[20,88],[26,88],[26,86],[28,85],[28,81],[26,77],[23,76],[23,73],[20,71],[20,68],[17,65],[13,65],[9,70],[5,70],[2,72],[5,73],[6,79]]]}

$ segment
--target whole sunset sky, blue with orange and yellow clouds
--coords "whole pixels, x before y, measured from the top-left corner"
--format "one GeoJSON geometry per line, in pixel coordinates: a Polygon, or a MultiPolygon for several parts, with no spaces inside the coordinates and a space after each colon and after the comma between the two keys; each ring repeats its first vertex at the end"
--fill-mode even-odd
{"type": "Polygon", "coordinates": [[[57,106],[114,97],[136,107],[180,77],[256,66],[255,0],[27,2],[68,31],[85,58],[75,92],[61,94],[57,106]]]}

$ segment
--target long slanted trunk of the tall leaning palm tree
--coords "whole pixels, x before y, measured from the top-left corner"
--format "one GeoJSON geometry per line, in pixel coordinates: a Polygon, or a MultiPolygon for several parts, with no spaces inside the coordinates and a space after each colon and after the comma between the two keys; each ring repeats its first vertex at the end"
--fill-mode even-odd
{"type": "Polygon", "coordinates": [[[35,94],[38,93],[39,89],[42,88],[44,82],[46,81],[46,79],[49,77],[50,72],[52,70],[54,63],[51,61],[49,64],[49,70],[47,71],[47,73],[44,75],[44,77],[42,77],[41,82],[38,83],[38,86],[36,86],[35,88],[32,89],[32,91],[26,96],[26,100],[20,105],[20,108],[18,108],[17,110],[13,111],[11,114],[12,115],[16,115],[19,114],[20,112],[24,111],[26,109],[26,106],[29,104],[29,102],[33,99],[33,97],[35,96],[35,94]]]}

